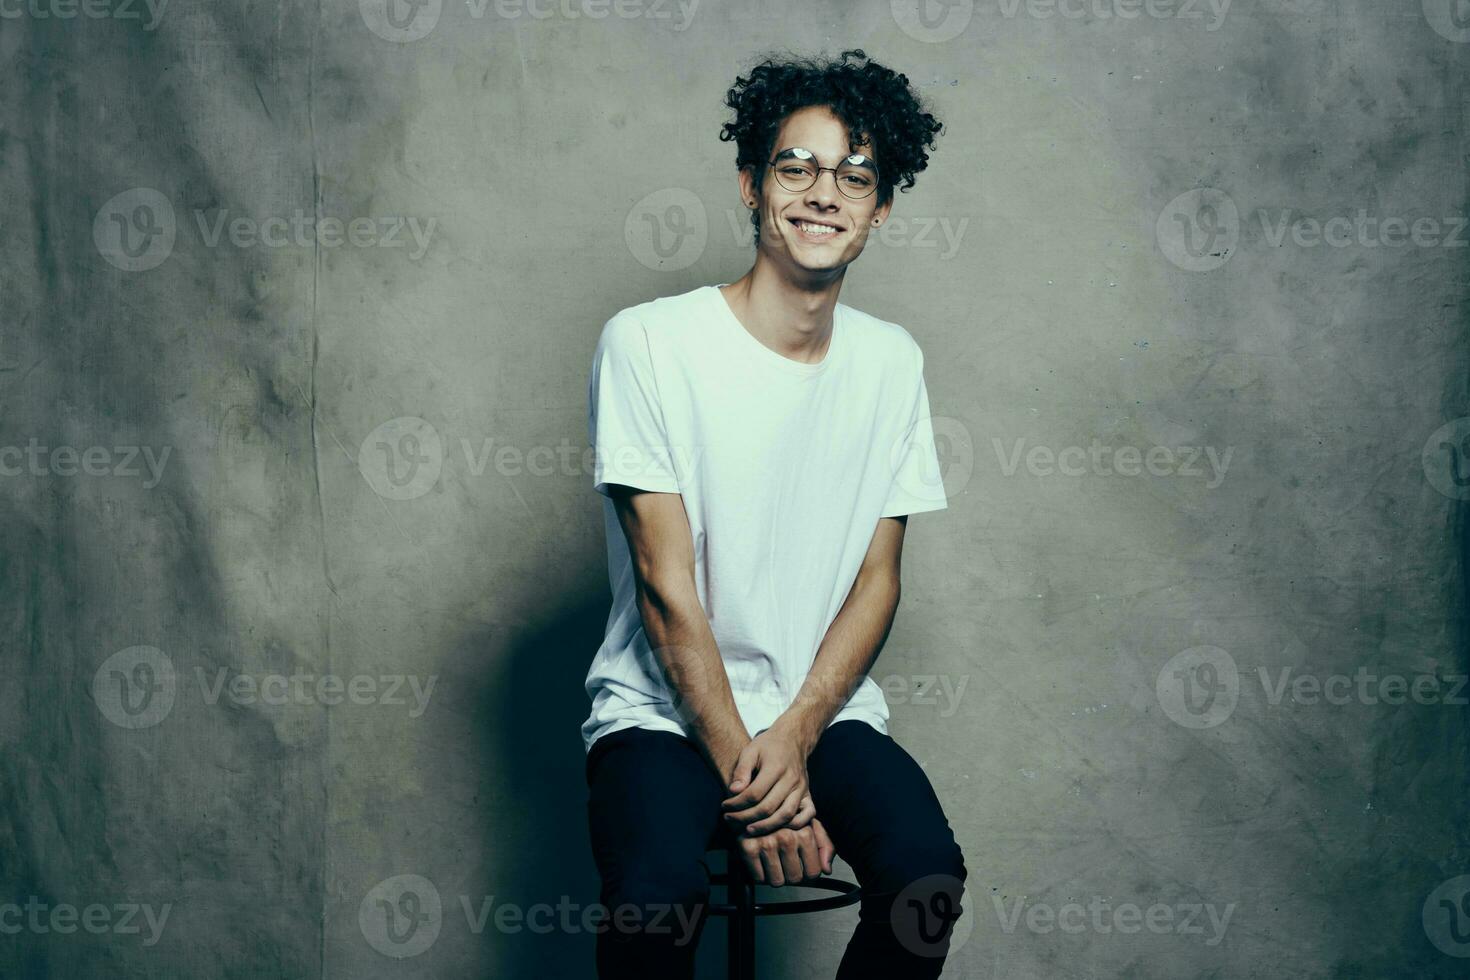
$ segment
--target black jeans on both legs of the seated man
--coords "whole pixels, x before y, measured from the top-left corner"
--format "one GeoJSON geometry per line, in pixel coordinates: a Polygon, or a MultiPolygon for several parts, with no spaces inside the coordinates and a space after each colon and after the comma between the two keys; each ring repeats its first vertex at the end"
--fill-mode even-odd
{"type": "MultiPolygon", "coordinates": [[[[966,868],[928,776],[892,738],[847,720],[823,732],[807,758],[807,779],[817,820],[863,887],[838,980],[938,977],[966,868]]],[[[731,793],[694,742],[650,729],[597,739],[587,783],[607,909],[597,976],[694,977],[694,949],[709,918],[704,857],[731,839],[720,814],[731,793]]]]}

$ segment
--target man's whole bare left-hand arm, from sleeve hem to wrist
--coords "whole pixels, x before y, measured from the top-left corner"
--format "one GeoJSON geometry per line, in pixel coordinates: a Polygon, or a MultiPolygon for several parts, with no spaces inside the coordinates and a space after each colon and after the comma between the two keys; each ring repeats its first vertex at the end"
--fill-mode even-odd
{"type": "Polygon", "coordinates": [[[679,699],[679,713],[706,760],[729,786],[750,732],[735,707],[710,620],[694,583],[694,536],[684,497],[610,485],[628,538],[638,613],[654,657],[679,699]]]}

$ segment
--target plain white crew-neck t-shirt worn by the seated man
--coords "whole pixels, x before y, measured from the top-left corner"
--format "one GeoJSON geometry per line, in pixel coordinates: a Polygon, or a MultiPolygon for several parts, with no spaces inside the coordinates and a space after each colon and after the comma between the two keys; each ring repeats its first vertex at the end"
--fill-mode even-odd
{"type": "MultiPolygon", "coordinates": [[[[592,356],[588,436],[613,592],[587,674],[588,751],[632,726],[692,738],[642,629],[609,483],[682,495],[700,604],[753,736],[801,689],[878,519],[947,507],[923,353],[842,303],[816,364],[756,339],[717,287],[620,310],[592,356]]],[[[872,677],[832,723],[847,718],[886,733],[872,677]]]]}

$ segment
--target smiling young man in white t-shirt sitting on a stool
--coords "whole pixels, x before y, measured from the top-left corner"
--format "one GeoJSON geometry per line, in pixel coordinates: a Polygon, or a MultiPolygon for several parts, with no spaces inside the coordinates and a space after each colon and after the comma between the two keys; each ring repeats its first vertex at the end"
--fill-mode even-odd
{"type": "Polygon", "coordinates": [[[734,836],[766,884],[851,864],[841,980],[938,977],[964,861],[867,670],[907,516],[945,497],[919,345],[838,291],[941,126],[863,51],[766,60],[726,101],[756,263],[619,311],[588,386],[613,589],[582,726],[598,976],[694,976],[704,855],[734,836]]]}

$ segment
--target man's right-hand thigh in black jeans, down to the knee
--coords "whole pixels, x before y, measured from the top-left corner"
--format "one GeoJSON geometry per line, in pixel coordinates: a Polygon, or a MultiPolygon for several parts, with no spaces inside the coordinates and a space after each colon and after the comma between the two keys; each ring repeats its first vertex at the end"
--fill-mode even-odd
{"type": "Polygon", "coordinates": [[[807,780],[817,820],[866,890],[897,892],[916,874],[966,877],[928,774],[891,736],[857,720],[828,726],[807,780]]]}

